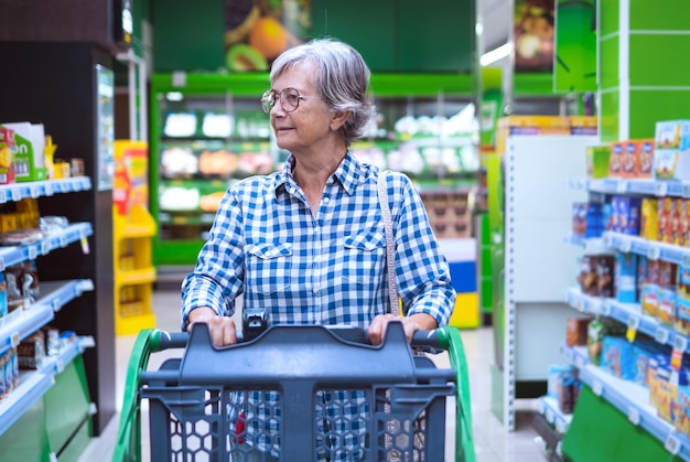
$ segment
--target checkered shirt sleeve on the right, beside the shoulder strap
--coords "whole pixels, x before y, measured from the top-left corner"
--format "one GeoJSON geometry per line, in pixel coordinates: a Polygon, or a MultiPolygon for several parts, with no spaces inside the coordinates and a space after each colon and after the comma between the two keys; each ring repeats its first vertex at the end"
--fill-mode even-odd
{"type": "Polygon", "coordinates": [[[448,325],[455,305],[455,290],[448,261],[429,222],[421,196],[401,173],[393,179],[391,211],[396,240],[396,279],[406,315],[427,313],[439,326],[448,325]],[[395,208],[398,208],[398,213],[395,208]]]}

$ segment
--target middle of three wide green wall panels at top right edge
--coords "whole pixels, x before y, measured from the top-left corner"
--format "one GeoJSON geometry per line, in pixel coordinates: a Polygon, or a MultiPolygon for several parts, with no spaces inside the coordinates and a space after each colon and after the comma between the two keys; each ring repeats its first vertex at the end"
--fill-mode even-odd
{"type": "Polygon", "coordinates": [[[632,34],[630,86],[688,86],[690,62],[678,58],[679,50],[690,50],[690,35],[632,34]]]}

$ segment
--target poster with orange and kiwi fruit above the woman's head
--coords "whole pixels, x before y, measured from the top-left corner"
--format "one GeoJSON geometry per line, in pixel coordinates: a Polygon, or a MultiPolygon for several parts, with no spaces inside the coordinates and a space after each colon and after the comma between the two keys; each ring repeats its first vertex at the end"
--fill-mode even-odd
{"type": "Polygon", "coordinates": [[[229,71],[268,71],[311,30],[311,0],[225,0],[225,62],[229,71]]]}

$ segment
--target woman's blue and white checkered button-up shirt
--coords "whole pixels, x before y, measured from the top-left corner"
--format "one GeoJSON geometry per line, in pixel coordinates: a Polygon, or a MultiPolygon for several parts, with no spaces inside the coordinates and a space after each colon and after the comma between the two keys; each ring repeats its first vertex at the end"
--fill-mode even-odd
{"type": "MultiPolygon", "coordinates": [[[[377,191],[380,173],[348,152],[327,181],[315,217],[292,176],[292,159],[281,172],[230,187],[196,267],[183,282],[183,329],[190,311],[197,307],[233,315],[240,293],[245,308],[268,309],[271,324],[368,327],[376,315],[387,313],[386,234],[377,191]]],[[[403,312],[428,313],[439,325],[446,325],[455,291],[427,211],[406,175],[391,172],[386,176],[403,312]]],[[[323,405],[315,412],[334,413],[330,402],[346,393],[320,391],[323,405]]],[[[364,400],[362,391],[354,394],[355,401],[364,400]]],[[[278,399],[276,393],[235,395],[230,427],[245,405],[262,409],[261,401],[276,404],[278,399]]],[[[338,419],[341,425],[347,422],[352,434],[365,431],[362,410],[354,406],[349,416],[338,419]]],[[[277,416],[252,417],[257,418],[247,423],[245,440],[279,453],[277,416]],[[260,437],[266,434],[269,440],[260,437]]],[[[351,448],[352,453],[362,454],[357,448],[351,448]]],[[[330,459],[353,460],[352,453],[332,453],[330,459]]]]}

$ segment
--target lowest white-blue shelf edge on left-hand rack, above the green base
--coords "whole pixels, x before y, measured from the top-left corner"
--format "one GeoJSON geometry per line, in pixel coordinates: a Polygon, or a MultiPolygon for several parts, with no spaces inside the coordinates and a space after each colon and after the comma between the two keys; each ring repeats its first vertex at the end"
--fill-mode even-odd
{"type": "Polygon", "coordinates": [[[35,401],[45,395],[55,383],[55,376],[63,372],[65,365],[84,353],[85,348],[91,346],[94,346],[93,337],[77,337],[75,342],[63,347],[60,354],[46,357],[40,369],[22,373],[20,385],[0,401],[0,434],[4,433],[35,401]]]}

